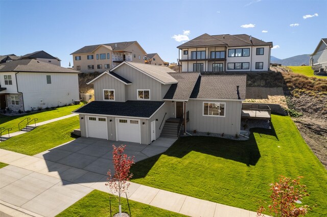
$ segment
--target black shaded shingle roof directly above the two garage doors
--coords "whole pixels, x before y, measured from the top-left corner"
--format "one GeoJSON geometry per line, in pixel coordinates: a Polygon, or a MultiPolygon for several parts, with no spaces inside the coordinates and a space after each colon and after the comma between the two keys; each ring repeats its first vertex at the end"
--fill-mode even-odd
{"type": "Polygon", "coordinates": [[[162,101],[141,100],[126,102],[93,101],[74,111],[74,113],[150,118],[164,103],[162,101]]]}

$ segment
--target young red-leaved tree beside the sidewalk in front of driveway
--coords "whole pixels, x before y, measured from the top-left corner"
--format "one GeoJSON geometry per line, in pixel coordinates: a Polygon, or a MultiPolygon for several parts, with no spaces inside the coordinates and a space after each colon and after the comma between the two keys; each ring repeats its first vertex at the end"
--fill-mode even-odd
{"type": "Polygon", "coordinates": [[[119,198],[119,216],[122,216],[122,205],[121,205],[121,195],[127,191],[129,186],[129,181],[133,174],[130,173],[130,168],[134,164],[134,156],[128,157],[124,154],[126,145],[121,145],[115,147],[112,145],[112,164],[114,167],[114,175],[111,174],[110,170],[108,171],[108,182],[106,183],[109,186],[112,193],[118,193],[119,198]]]}

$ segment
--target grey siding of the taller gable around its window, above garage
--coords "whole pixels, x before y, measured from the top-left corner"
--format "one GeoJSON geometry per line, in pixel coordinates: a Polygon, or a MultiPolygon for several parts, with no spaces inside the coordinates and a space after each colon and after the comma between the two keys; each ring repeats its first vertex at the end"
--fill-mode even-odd
{"type": "Polygon", "coordinates": [[[126,78],[131,85],[126,86],[126,101],[137,100],[137,89],[150,90],[151,101],[161,101],[161,84],[155,79],[126,64],[114,69],[116,74],[126,78]]]}

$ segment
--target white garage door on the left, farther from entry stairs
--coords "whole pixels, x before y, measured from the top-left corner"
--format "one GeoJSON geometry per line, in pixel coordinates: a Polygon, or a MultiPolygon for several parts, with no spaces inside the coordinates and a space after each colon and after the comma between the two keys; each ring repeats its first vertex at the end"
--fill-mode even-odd
{"type": "Polygon", "coordinates": [[[87,137],[108,139],[107,118],[86,116],[87,137]]]}

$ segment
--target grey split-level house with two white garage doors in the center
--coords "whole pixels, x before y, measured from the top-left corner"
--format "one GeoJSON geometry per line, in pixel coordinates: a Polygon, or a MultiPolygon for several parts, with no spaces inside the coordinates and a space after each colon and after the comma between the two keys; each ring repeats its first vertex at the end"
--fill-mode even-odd
{"type": "Polygon", "coordinates": [[[74,111],[82,137],[150,144],[197,130],[239,134],[246,75],[205,76],[123,62],[87,84],[95,101],[74,111]]]}

